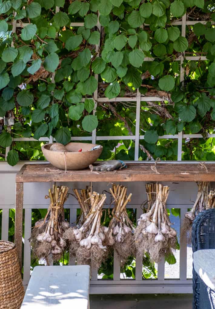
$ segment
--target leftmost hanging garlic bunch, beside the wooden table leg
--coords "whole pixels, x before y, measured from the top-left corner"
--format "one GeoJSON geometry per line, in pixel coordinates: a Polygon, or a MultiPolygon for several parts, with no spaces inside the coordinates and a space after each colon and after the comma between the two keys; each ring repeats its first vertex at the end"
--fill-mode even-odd
{"type": "Polygon", "coordinates": [[[69,223],[64,221],[64,202],[67,200],[68,189],[65,186],[52,186],[49,189],[50,205],[44,220],[35,223],[31,233],[31,244],[35,256],[43,258],[49,263],[48,257],[59,260],[65,248],[63,232],[68,229],[69,223]]]}

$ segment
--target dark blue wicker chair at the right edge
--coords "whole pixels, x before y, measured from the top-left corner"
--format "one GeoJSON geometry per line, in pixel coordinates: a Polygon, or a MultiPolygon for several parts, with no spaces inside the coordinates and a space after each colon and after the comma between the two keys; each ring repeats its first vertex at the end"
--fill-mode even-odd
{"type": "MultiPolygon", "coordinates": [[[[201,249],[215,249],[215,209],[204,210],[193,222],[192,251],[201,249]]],[[[215,292],[205,284],[194,267],[193,309],[215,309],[215,292]]]]}

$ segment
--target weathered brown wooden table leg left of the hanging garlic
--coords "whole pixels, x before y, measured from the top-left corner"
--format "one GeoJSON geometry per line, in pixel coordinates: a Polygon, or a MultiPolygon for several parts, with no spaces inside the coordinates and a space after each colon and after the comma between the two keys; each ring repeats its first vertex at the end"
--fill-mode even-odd
{"type": "Polygon", "coordinates": [[[17,248],[19,267],[22,270],[23,247],[23,182],[16,183],[16,211],[15,211],[15,244],[17,248]]]}

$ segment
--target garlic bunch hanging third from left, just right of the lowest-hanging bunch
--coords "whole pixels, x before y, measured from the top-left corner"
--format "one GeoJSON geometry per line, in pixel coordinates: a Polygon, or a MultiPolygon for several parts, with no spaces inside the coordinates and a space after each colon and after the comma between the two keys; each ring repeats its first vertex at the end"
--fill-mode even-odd
{"type": "Polygon", "coordinates": [[[110,193],[114,198],[114,208],[107,231],[106,244],[113,246],[121,264],[123,265],[127,258],[134,254],[134,234],[133,224],[130,221],[126,205],[130,201],[132,194],[126,197],[127,188],[121,185],[113,184],[110,193]]]}

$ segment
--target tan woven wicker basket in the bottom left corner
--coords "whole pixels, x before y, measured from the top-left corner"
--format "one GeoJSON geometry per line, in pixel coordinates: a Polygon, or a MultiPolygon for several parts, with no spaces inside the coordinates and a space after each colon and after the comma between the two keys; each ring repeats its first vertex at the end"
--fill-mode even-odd
{"type": "Polygon", "coordinates": [[[0,309],[18,309],[24,298],[14,243],[0,240],[0,309]]]}

